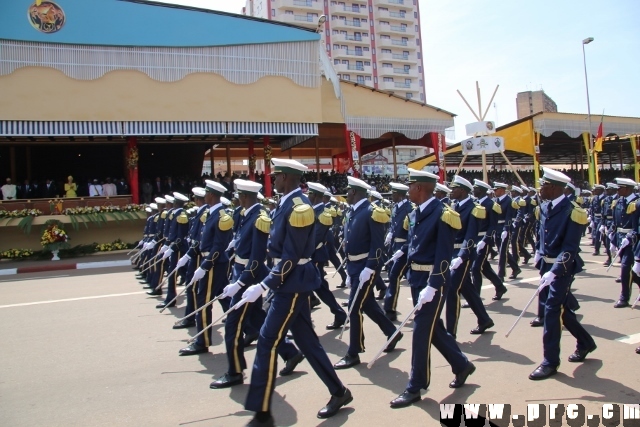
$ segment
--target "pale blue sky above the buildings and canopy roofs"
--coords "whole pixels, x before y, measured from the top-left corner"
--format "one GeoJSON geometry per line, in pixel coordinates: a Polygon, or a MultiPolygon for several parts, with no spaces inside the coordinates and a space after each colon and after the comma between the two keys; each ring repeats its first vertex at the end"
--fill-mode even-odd
{"type": "MultiPolygon", "coordinates": [[[[164,0],[240,13],[244,0],[164,0]]],[[[420,0],[427,103],[458,115],[456,140],[475,121],[456,90],[487,120],[516,120],[516,94],[543,89],[558,110],[586,113],[582,40],[591,114],[640,117],[640,0],[420,0]]],[[[594,119],[594,121],[599,118],[594,119]]],[[[606,122],[605,122],[606,133],[606,122]]]]}

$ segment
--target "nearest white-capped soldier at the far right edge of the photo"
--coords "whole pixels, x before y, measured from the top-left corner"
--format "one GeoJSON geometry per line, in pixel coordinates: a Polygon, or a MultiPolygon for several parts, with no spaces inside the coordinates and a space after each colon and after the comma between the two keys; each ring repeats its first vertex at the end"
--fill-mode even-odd
{"type": "MultiPolygon", "coordinates": [[[[634,265],[634,248],[638,242],[638,195],[633,192],[637,185],[628,178],[616,178],[618,185],[618,200],[613,209],[613,231],[611,233],[611,252],[620,258],[620,281],[622,290],[615,308],[629,307],[632,283],[640,286],[640,277],[632,269],[634,265]]],[[[640,250],[637,251],[640,255],[640,250]]],[[[640,256],[638,256],[640,258],[640,256]]],[[[614,260],[615,261],[615,260],[614,260]]]]}

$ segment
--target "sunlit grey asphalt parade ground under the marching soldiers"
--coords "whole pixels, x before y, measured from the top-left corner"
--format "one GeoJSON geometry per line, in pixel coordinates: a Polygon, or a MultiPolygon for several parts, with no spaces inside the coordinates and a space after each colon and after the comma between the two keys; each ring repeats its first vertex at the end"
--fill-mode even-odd
{"type": "MultiPolygon", "coordinates": [[[[527,404],[582,404],[586,414],[601,414],[605,403],[640,402],[640,305],[614,309],[620,285],[619,265],[609,272],[604,256],[591,255],[583,240],[586,271],[576,276],[573,291],[579,319],[598,348],[583,363],[569,363],[575,340],[565,330],[562,365],[550,379],[534,382],[528,375],[542,361],[542,328],[532,328],[535,304],[506,338],[516,317],[534,294],[537,271],[523,266],[517,280],[507,280],[508,292],[491,301],[494,290],[485,279],[482,297],[495,326],[471,335],[475,316],[463,309],[458,342],[476,365],[464,387],[450,389],[451,368],[432,348],[432,381],[423,399],[404,409],[389,401],[407,383],[411,360],[411,322],[392,353],[369,362],[386,341],[365,316],[366,352],[362,364],[338,371],[354,400],[328,420],[316,418],[329,393],[306,361],[294,374],[278,377],[272,412],[280,426],[429,426],[438,425],[441,403],[511,404],[514,414],[526,414],[527,404]]],[[[495,262],[494,262],[495,266],[495,262]]],[[[346,292],[330,287],[338,300],[346,292]]],[[[510,274],[507,269],[507,274],[510,274]]],[[[400,323],[410,311],[409,289],[403,282],[400,323]]],[[[180,291],[182,288],[178,288],[180,291]]],[[[638,296],[634,285],[633,299],[638,296]]],[[[244,385],[211,390],[209,384],[226,372],[222,323],[213,327],[210,352],[178,356],[195,329],[173,330],[184,313],[178,307],[159,314],[157,298],[148,297],[129,267],[19,274],[0,277],[0,425],[2,426],[242,426],[252,413],[244,409],[255,345],[246,351],[249,369],[244,385]]],[[[213,317],[221,314],[214,306],[213,317]]],[[[321,305],[313,310],[316,332],[333,363],[345,355],[348,334],[327,331],[333,316],[321,305]]],[[[278,361],[278,370],[284,365],[278,361]]],[[[564,424],[564,423],[563,423],[564,424]]],[[[566,424],[564,424],[566,425],[566,424]]]]}

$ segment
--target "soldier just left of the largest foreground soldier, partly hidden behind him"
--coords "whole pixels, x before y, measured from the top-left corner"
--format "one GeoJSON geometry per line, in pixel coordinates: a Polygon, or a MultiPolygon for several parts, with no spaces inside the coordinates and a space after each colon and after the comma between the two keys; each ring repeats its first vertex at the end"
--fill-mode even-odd
{"type": "MultiPolygon", "coordinates": [[[[242,300],[245,289],[250,285],[260,283],[269,274],[265,260],[271,228],[271,218],[258,203],[257,196],[262,184],[236,179],[234,185],[238,191],[238,200],[243,211],[239,218],[240,223],[237,227],[234,226],[236,228],[235,257],[232,269],[234,281],[224,288],[221,295],[221,298],[231,298],[232,306],[242,300]]],[[[263,317],[259,325],[253,326],[258,330],[262,327],[266,315],[264,315],[261,305],[262,298],[258,298],[253,303],[244,304],[238,310],[231,311],[227,316],[224,324],[224,341],[229,370],[212,382],[210,388],[227,388],[243,383],[242,373],[247,368],[247,363],[244,358],[245,343],[242,339],[242,331],[252,321],[250,315],[256,309],[263,313],[263,317]]],[[[280,371],[280,375],[283,376],[291,374],[304,359],[296,346],[286,339],[278,346],[278,354],[286,362],[285,368],[280,371]]]]}

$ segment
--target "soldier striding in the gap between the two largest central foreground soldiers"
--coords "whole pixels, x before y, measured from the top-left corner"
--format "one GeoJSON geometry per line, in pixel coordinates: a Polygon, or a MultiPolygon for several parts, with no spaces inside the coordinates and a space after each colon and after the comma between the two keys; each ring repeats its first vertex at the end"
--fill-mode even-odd
{"type": "MultiPolygon", "coordinates": [[[[365,350],[363,313],[378,325],[385,336],[390,337],[396,331],[373,296],[376,271],[382,264],[384,226],[389,222],[389,216],[384,209],[372,206],[367,199],[367,192],[371,189],[369,184],[352,176],[348,176],[347,180],[347,202],[351,205],[351,211],[347,215],[344,239],[347,285],[351,286],[349,306],[352,309],[349,317],[349,348],[347,354],[334,365],[336,369],[347,369],[360,363],[360,353],[365,350]]],[[[393,351],[400,339],[402,333],[396,335],[385,351],[393,351]]]]}

